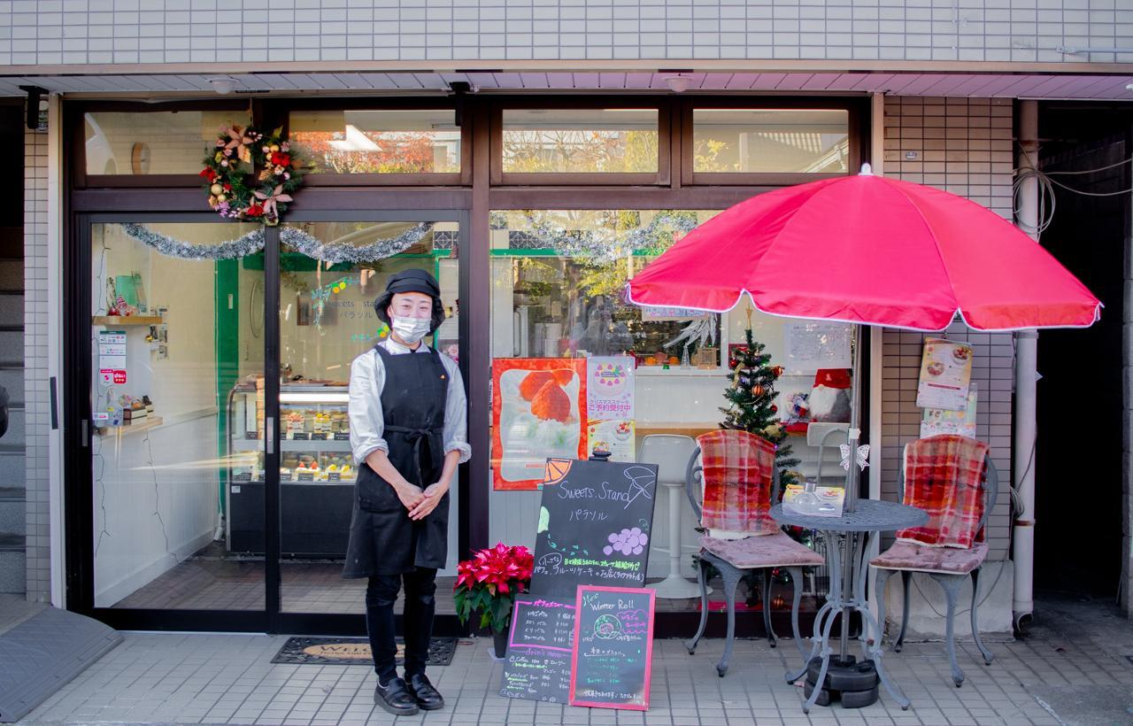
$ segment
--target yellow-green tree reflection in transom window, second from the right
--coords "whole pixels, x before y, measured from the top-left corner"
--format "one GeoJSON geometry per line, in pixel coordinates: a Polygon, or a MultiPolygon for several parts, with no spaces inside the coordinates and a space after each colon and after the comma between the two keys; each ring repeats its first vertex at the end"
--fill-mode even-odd
{"type": "Polygon", "coordinates": [[[509,172],[624,173],[657,170],[657,131],[545,129],[506,130],[503,164],[509,172]]]}

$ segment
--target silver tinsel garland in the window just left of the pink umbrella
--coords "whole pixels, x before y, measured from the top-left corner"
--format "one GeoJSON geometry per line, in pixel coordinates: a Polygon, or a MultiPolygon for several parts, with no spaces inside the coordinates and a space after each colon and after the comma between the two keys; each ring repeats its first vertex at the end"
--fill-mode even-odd
{"type": "MultiPolygon", "coordinates": [[[[523,233],[543,246],[554,249],[565,257],[585,257],[591,262],[611,262],[637,251],[656,248],[666,232],[688,233],[699,224],[695,213],[659,212],[649,224],[634,230],[619,232],[604,230],[569,230],[564,227],[538,220],[534,214],[527,214],[530,229],[523,233]]],[[[506,220],[501,216],[493,219],[494,229],[505,229],[506,220]]],[[[659,250],[658,250],[659,251],[659,250]]]]}

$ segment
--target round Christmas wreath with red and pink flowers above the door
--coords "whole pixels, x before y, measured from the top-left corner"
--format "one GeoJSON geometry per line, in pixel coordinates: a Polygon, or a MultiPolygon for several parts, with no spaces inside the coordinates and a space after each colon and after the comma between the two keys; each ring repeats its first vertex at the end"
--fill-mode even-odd
{"type": "Polygon", "coordinates": [[[303,182],[303,170],[282,131],[264,134],[250,126],[220,130],[199,174],[208,206],[224,217],[279,224],[291,193],[303,182]]]}

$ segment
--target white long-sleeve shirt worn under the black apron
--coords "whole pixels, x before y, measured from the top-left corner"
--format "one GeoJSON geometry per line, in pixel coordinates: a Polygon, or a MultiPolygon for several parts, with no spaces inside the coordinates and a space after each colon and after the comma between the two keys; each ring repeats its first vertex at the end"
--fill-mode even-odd
{"type": "MultiPolygon", "coordinates": [[[[378,343],[391,356],[414,352],[411,349],[386,338],[378,343]]],[[[418,353],[429,352],[429,347],[421,343],[418,353]]],[[[460,452],[460,463],[468,461],[472,449],[468,445],[468,413],[465,396],[465,383],[460,377],[457,361],[440,353],[441,364],[449,374],[449,394],[444,403],[444,453],[460,452]]],[[[350,364],[350,449],[357,464],[366,461],[370,453],[382,450],[390,453],[385,442],[385,417],[382,413],[382,388],[385,386],[385,364],[374,350],[367,350],[350,364]]]]}

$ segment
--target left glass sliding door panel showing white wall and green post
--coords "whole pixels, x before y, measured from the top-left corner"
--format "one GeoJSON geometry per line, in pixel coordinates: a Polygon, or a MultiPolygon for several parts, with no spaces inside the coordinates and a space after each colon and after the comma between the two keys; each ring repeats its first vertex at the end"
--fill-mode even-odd
{"type": "Polygon", "coordinates": [[[90,227],[96,608],[264,610],[257,227],[90,227]]]}

